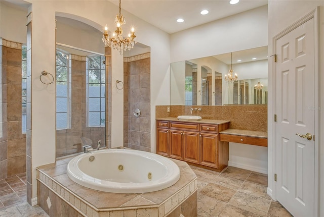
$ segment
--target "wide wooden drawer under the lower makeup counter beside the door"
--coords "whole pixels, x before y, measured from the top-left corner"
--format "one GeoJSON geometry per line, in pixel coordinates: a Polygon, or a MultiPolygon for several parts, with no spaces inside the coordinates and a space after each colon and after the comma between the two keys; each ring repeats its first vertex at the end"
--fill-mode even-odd
{"type": "Polygon", "coordinates": [[[251,136],[238,136],[238,135],[230,135],[230,134],[220,134],[219,135],[220,141],[225,142],[236,142],[242,144],[249,144],[249,145],[258,145],[258,146],[268,146],[268,139],[266,138],[258,138],[258,137],[251,137],[251,136]]]}

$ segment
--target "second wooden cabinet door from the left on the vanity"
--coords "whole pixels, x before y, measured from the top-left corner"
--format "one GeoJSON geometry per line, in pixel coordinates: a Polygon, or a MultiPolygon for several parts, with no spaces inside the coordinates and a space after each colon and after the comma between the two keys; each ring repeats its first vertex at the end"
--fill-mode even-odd
{"type": "Polygon", "coordinates": [[[183,159],[183,132],[170,130],[170,157],[183,159]]]}

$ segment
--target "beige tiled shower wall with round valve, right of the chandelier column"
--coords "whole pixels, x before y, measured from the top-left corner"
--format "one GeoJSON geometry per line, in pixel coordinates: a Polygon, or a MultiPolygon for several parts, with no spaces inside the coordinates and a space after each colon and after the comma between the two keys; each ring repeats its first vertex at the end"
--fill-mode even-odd
{"type": "Polygon", "coordinates": [[[124,147],[150,152],[150,53],[124,58],[124,147]],[[139,108],[140,117],[134,116],[139,108]]]}

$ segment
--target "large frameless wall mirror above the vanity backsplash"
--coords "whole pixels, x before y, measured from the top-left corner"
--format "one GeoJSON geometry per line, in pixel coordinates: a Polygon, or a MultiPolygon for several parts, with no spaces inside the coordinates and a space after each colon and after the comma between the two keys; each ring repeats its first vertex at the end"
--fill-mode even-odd
{"type": "Polygon", "coordinates": [[[268,47],[171,63],[171,105],[267,104],[268,47]],[[226,81],[229,69],[236,81],[226,81]]]}

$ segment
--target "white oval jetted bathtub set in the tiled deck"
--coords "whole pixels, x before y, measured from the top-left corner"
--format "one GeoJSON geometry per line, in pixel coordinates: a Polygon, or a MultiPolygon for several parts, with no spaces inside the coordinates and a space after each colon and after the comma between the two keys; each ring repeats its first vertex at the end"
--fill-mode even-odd
{"type": "Polygon", "coordinates": [[[87,188],[113,193],[145,193],[168,188],[180,178],[172,160],[132,149],[104,149],[72,158],[68,177],[87,188]]]}

